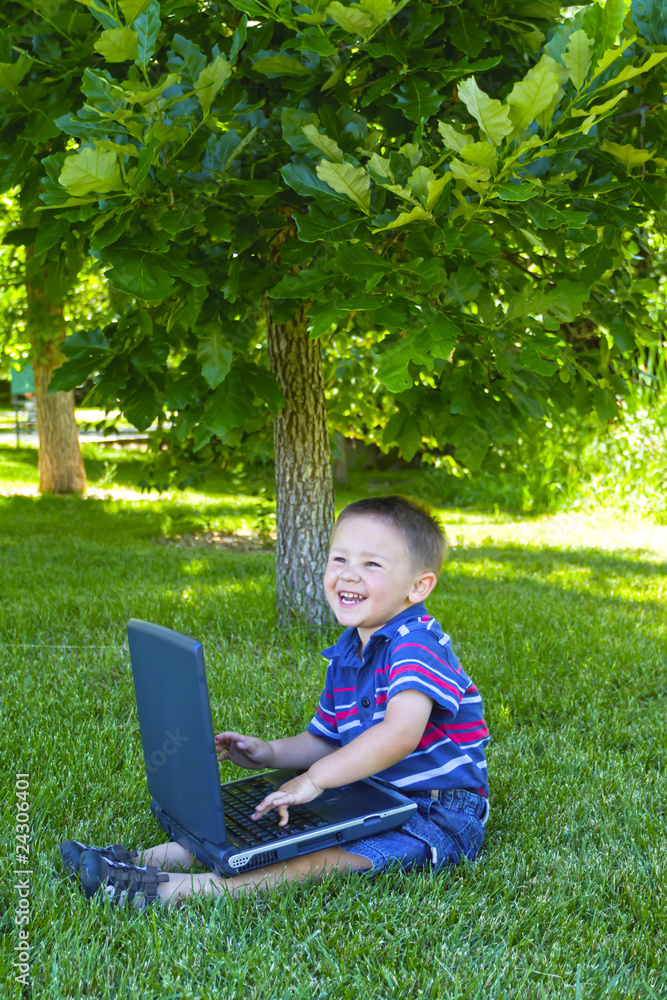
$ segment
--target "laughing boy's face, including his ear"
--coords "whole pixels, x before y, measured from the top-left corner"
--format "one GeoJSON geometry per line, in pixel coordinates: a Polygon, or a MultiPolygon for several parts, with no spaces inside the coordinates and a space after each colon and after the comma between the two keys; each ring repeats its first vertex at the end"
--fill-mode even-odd
{"type": "Polygon", "coordinates": [[[435,573],[412,564],[391,524],[358,514],[336,528],[324,592],[340,624],[356,628],[363,645],[394,615],[425,600],[435,584],[435,573]]]}

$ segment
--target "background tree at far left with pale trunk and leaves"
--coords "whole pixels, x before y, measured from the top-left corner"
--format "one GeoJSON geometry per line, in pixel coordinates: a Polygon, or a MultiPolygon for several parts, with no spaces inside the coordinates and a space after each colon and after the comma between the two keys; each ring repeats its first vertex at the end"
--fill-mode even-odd
{"type": "MultiPolygon", "coordinates": [[[[78,103],[82,62],[92,40],[70,13],[69,47],[58,23],[57,3],[8,4],[2,14],[0,35],[0,190],[20,184],[16,198],[18,226],[5,236],[10,246],[23,246],[20,261],[25,309],[21,332],[30,344],[35,376],[39,430],[39,485],[42,492],[83,493],[86,476],[74,417],[71,390],[48,394],[54,369],[64,360],[59,344],[72,332],[64,310],[72,292],[80,285],[84,242],[73,220],[44,216],[37,197],[41,158],[55,143],[64,149],[65,139],[54,118],[78,103]],[[33,6],[33,5],[31,5],[33,6]],[[26,14],[29,17],[26,19],[26,14]],[[34,16],[33,16],[34,14],[34,16]],[[20,32],[28,52],[12,50],[12,39],[21,20],[20,32]]],[[[16,340],[12,329],[5,343],[16,340]]]]}

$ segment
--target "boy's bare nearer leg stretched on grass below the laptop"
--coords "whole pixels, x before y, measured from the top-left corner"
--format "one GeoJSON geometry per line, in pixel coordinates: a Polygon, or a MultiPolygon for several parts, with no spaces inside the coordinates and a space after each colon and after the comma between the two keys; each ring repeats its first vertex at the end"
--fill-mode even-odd
{"type": "MultiPolygon", "coordinates": [[[[188,854],[187,851],[184,853],[188,854]]],[[[192,856],[189,855],[189,857],[192,856]]],[[[171,859],[167,858],[167,860],[171,859]]],[[[142,860],[141,863],[145,862],[142,860]]],[[[210,872],[206,874],[192,873],[182,877],[172,874],[168,882],[159,884],[158,895],[165,904],[185,899],[194,894],[239,896],[246,892],[269,892],[285,882],[303,881],[309,877],[322,878],[334,871],[365,871],[370,867],[371,862],[359,854],[350,854],[348,851],[337,848],[327,848],[315,851],[313,854],[292,858],[291,861],[282,864],[267,865],[265,868],[255,868],[246,873],[232,875],[230,878],[220,878],[220,876],[210,872]]]]}

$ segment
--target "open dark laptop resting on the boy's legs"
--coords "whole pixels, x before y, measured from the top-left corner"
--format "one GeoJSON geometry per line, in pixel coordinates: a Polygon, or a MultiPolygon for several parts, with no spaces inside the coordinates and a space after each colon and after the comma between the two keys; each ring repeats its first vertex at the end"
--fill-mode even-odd
{"type": "Polygon", "coordinates": [[[151,811],[168,836],[218,875],[287,861],[401,826],[416,803],[376,778],[326,790],[307,806],[250,819],[296,771],[220,784],[201,642],[133,618],[127,626],[151,811]]]}

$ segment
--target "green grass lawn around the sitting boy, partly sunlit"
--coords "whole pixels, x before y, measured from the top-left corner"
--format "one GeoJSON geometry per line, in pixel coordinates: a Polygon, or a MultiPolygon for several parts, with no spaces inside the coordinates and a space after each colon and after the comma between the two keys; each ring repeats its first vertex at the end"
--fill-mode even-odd
{"type": "MultiPolygon", "coordinates": [[[[95,454],[89,499],[0,497],[1,754],[10,806],[15,774],[30,774],[33,996],[664,1000],[667,528],[601,511],[442,511],[453,546],[429,608],[482,690],[492,733],[492,813],[474,866],[109,913],[64,879],[54,850],[67,837],[164,839],[127,619],[201,638],[214,724],[267,737],[309,719],[330,636],[277,628],[270,550],[182,544],[252,531],[258,496],[220,477],[206,494],[142,498],[129,488],[139,453],[95,454]]],[[[34,489],[32,454],[0,459],[8,493],[34,489]]],[[[420,485],[373,483],[337,502],[420,485]]],[[[8,997],[20,995],[13,828],[9,813],[8,997]]]]}

